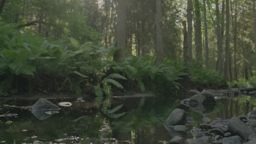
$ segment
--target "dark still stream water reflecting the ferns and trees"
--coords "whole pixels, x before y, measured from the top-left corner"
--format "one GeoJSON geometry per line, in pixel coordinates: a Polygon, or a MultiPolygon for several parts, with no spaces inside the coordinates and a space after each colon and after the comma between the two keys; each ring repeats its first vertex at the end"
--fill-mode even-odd
{"type": "MultiPolygon", "coordinates": [[[[0,107],[3,104],[27,106],[34,102],[1,101],[0,107]]],[[[184,109],[187,117],[194,119],[183,133],[191,138],[189,131],[203,123],[203,118],[228,119],[247,115],[256,108],[256,98],[240,96],[220,99],[216,105],[196,107],[179,105],[178,100],[173,99],[133,100],[124,103],[120,111],[127,113],[120,118],[109,118],[88,105],[74,102],[71,107],[61,107],[60,113],[45,120],[39,120],[28,110],[1,108],[0,115],[9,111],[18,113],[18,117],[0,117],[0,143],[166,143],[172,139],[173,132],[166,130],[162,123],[173,109],[184,109]]]]}

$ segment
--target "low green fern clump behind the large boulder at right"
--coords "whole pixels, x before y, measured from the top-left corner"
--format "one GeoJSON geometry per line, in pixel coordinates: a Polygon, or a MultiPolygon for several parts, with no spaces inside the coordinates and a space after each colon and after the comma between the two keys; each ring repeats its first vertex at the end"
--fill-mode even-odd
{"type": "Polygon", "coordinates": [[[217,71],[191,65],[189,78],[192,82],[203,87],[219,87],[223,77],[217,71]]]}

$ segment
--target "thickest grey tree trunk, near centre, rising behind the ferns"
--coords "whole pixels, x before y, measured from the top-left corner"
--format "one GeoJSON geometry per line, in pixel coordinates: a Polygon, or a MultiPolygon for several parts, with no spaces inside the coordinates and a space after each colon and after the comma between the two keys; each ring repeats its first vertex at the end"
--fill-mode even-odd
{"type": "Polygon", "coordinates": [[[125,57],[126,49],[126,25],[127,25],[127,4],[129,1],[118,0],[117,18],[117,47],[119,50],[114,55],[115,60],[125,57]]]}

